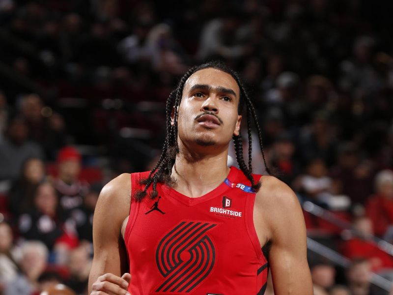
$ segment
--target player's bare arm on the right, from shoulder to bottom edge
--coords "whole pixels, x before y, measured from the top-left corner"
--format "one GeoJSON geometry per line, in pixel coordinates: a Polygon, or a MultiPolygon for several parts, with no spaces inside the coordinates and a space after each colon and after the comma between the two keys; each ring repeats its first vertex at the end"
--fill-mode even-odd
{"type": "Polygon", "coordinates": [[[266,178],[258,198],[263,198],[261,204],[270,232],[269,265],[275,294],[311,295],[302,208],[286,184],[275,177],[266,178]]]}

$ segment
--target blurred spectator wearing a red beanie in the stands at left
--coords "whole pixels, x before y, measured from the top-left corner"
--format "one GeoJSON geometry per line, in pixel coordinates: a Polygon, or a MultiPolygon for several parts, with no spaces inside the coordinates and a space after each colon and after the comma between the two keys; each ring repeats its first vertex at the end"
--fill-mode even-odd
{"type": "Polygon", "coordinates": [[[65,147],[57,154],[58,176],[55,180],[60,207],[67,215],[81,207],[88,191],[88,183],[78,179],[81,172],[82,156],[76,148],[65,147]]]}

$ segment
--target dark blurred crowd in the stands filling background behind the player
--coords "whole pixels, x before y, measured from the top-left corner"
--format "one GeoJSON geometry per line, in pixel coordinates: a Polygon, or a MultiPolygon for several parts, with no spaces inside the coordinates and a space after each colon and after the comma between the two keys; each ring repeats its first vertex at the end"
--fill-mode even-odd
{"type": "Polygon", "coordinates": [[[310,253],[314,294],[388,294],[371,278],[393,281],[392,6],[0,0],[0,294],[85,294],[99,191],[154,165],[168,94],[210,59],[250,90],[274,174],[346,225],[305,210],[309,236],[349,259],[310,253]]]}

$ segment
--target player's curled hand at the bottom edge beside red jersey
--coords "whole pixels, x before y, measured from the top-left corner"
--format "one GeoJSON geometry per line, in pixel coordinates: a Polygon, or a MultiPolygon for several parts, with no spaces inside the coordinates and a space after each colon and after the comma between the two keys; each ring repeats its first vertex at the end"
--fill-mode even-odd
{"type": "Polygon", "coordinates": [[[131,274],[124,273],[121,277],[112,273],[105,273],[94,282],[90,295],[131,295],[127,292],[131,274]]]}

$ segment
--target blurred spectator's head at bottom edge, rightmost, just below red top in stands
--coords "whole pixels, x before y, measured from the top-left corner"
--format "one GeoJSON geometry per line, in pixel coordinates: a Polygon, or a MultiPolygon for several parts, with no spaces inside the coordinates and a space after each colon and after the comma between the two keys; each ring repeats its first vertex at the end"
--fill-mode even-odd
{"type": "Polygon", "coordinates": [[[351,295],[376,295],[370,279],[371,266],[365,259],[354,260],[347,269],[347,281],[351,295]]]}

